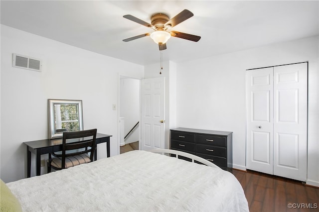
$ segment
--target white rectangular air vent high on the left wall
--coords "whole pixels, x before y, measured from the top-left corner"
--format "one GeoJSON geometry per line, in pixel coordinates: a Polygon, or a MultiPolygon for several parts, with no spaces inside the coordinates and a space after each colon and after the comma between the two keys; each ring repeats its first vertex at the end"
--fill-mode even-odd
{"type": "Polygon", "coordinates": [[[28,69],[32,71],[41,71],[42,61],[40,59],[28,56],[13,54],[12,67],[28,69]]]}

